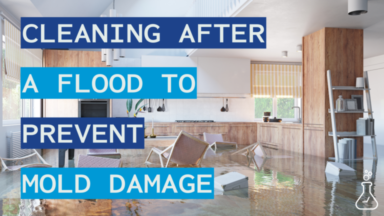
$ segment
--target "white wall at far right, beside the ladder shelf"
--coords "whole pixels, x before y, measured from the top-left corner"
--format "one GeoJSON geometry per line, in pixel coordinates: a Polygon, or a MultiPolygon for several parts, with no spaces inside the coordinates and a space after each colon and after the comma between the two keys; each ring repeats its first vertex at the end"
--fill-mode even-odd
{"type": "MultiPolygon", "coordinates": [[[[384,145],[384,94],[382,93],[384,80],[384,55],[364,59],[364,71],[368,71],[370,100],[372,104],[376,144],[384,145]]],[[[364,108],[366,110],[364,94],[364,108]]],[[[364,113],[364,116],[368,115],[364,113]]],[[[370,137],[364,137],[365,143],[371,143],[370,137]]]]}

